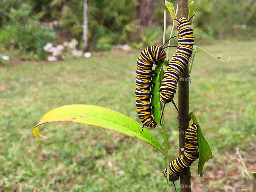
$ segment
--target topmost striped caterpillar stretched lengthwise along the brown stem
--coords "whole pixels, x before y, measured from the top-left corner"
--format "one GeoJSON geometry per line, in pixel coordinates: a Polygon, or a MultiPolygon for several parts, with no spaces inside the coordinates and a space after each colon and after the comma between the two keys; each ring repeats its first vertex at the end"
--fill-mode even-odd
{"type": "MultiPolygon", "coordinates": [[[[194,14],[195,15],[195,14],[194,14]]],[[[194,16],[193,15],[193,16],[194,16]]],[[[193,17],[192,16],[192,17],[193,17]]],[[[191,17],[191,18],[192,18],[191,17]]],[[[190,19],[191,19],[190,18],[190,19]]],[[[165,109],[165,104],[172,102],[175,108],[173,98],[177,90],[177,84],[184,68],[189,62],[189,58],[192,55],[192,50],[194,46],[194,35],[193,29],[190,25],[190,19],[182,17],[178,21],[178,47],[176,53],[173,55],[171,62],[167,65],[167,70],[163,75],[162,86],[160,87],[160,101],[163,103],[163,110],[160,118],[160,125],[162,120],[163,111],[165,109]]],[[[178,109],[177,109],[178,111],[178,109]]],[[[179,113],[179,111],[178,111],[179,113]]],[[[179,114],[181,119],[181,115],[179,114]]],[[[182,122],[182,119],[181,119],[182,122]]]]}

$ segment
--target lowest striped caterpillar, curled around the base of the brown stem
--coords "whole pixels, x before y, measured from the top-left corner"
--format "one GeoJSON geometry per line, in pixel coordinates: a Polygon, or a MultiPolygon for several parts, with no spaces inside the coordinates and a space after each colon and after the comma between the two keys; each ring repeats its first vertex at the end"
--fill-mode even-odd
{"type": "MultiPolygon", "coordinates": [[[[169,181],[173,182],[173,185],[174,181],[179,179],[179,173],[187,167],[190,167],[199,157],[197,129],[198,125],[194,123],[187,128],[185,132],[185,152],[169,164],[169,181]]],[[[163,174],[167,179],[167,166],[165,167],[163,174]]]]}

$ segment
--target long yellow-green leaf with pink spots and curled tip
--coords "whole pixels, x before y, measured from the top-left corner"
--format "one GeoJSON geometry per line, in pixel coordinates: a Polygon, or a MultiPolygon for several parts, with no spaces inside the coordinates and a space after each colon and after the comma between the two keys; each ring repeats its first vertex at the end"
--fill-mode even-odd
{"type": "Polygon", "coordinates": [[[117,111],[94,105],[65,105],[53,109],[42,117],[39,123],[34,127],[33,134],[38,139],[48,139],[49,137],[39,133],[38,126],[49,122],[65,121],[95,125],[104,129],[117,131],[144,141],[155,147],[155,149],[159,150],[162,154],[166,154],[165,149],[147,129],[144,128],[143,132],[140,133],[142,125],[137,121],[117,111]]]}

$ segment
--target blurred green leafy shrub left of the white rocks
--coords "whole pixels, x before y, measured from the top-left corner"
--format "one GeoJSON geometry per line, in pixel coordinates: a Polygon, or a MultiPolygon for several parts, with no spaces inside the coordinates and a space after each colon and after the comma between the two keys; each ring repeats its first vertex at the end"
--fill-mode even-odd
{"type": "Polygon", "coordinates": [[[56,39],[55,32],[38,25],[37,17],[31,16],[32,8],[27,3],[20,3],[18,8],[9,9],[9,13],[6,11],[6,17],[2,17],[1,49],[14,47],[21,52],[30,52],[44,59],[43,47],[47,42],[56,39]]]}

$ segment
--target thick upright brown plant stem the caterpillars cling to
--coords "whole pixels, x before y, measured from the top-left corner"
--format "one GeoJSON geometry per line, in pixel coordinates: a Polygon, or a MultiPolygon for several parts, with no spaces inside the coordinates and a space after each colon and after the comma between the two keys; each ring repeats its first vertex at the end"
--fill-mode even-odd
{"type": "MultiPolygon", "coordinates": [[[[178,18],[185,17],[188,18],[188,2],[187,0],[178,0],[178,18]]],[[[189,66],[187,65],[181,75],[183,79],[189,79],[189,66]]],[[[182,126],[181,119],[179,119],[179,127],[183,129],[187,129],[189,127],[189,81],[179,81],[179,112],[182,118],[182,126]]],[[[185,146],[185,134],[183,133],[181,128],[179,128],[179,149],[185,146]]],[[[179,150],[179,155],[182,155],[184,151],[179,150]]],[[[191,183],[190,183],[190,167],[184,169],[180,175],[180,185],[181,192],[190,192],[191,191],[191,183]]]]}

